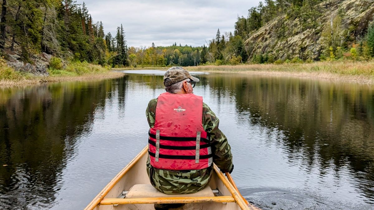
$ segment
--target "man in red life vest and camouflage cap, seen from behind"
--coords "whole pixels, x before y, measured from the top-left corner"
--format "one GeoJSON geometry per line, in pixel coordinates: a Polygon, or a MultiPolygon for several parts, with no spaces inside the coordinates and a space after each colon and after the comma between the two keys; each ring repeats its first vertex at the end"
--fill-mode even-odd
{"type": "MultiPolygon", "coordinates": [[[[208,186],[214,162],[232,172],[232,154],[219,120],[201,96],[193,94],[198,78],[182,67],[164,75],[166,93],[146,109],[149,130],[147,173],[151,184],[165,194],[191,194],[208,186]]],[[[155,204],[169,209],[175,204],[155,204]]]]}

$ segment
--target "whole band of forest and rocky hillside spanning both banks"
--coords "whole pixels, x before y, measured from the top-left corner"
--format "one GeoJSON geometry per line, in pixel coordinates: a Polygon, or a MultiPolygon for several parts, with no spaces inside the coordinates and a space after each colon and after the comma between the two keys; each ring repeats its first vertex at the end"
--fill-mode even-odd
{"type": "MultiPolygon", "coordinates": [[[[237,65],[374,57],[373,6],[367,0],[264,0],[238,16],[233,32],[202,46],[128,47],[123,25],[105,33],[74,0],[3,0],[0,53],[24,63],[47,53],[111,67],[237,65]],[[352,12],[353,11],[353,12],[352,12]],[[355,12],[355,13],[354,13],[355,12]]],[[[209,24],[209,23],[207,23],[209,24]]]]}

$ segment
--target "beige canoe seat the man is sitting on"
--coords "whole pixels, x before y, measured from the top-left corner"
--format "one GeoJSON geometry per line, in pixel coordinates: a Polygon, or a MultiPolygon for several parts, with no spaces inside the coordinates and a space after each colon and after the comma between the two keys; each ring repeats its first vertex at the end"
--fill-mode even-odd
{"type": "Polygon", "coordinates": [[[126,194],[126,198],[161,198],[161,197],[214,197],[214,193],[208,185],[202,191],[193,194],[163,194],[152,185],[138,184],[132,186],[126,194]]]}

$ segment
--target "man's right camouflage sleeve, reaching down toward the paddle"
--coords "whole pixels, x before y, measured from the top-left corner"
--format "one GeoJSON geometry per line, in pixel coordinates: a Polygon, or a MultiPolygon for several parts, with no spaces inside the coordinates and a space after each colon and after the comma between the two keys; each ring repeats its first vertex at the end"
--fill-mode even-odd
{"type": "Polygon", "coordinates": [[[218,129],[220,120],[208,105],[203,103],[203,126],[211,137],[213,162],[223,171],[230,172],[233,167],[231,147],[226,136],[218,129]]]}

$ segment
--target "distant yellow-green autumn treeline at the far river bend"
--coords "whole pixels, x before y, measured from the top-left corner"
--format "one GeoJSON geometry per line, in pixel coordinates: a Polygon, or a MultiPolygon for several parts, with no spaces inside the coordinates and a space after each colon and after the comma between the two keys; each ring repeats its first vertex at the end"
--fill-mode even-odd
{"type": "Polygon", "coordinates": [[[200,47],[182,46],[177,43],[172,46],[155,46],[140,48],[130,47],[129,64],[137,66],[197,66],[203,64],[240,64],[248,58],[243,40],[240,36],[233,37],[232,33],[221,36],[217,31],[216,39],[200,47]],[[223,52],[224,51],[224,52],[223,52]],[[229,54],[229,56],[225,55],[229,54]],[[226,62],[227,61],[227,62],[226,62]]]}

